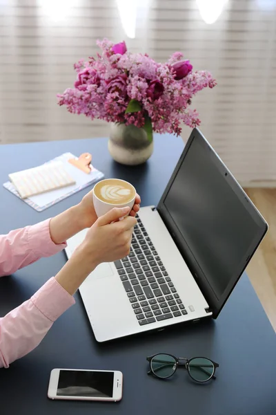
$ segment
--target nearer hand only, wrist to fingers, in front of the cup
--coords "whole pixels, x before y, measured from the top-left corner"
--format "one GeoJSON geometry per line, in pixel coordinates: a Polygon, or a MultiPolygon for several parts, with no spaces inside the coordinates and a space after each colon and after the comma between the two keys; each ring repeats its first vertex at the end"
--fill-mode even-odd
{"type": "Polygon", "coordinates": [[[137,220],[127,216],[119,221],[119,218],[129,211],[129,208],[114,208],[99,217],[88,230],[80,248],[92,266],[97,266],[101,262],[113,262],[129,254],[133,228],[137,220]]]}

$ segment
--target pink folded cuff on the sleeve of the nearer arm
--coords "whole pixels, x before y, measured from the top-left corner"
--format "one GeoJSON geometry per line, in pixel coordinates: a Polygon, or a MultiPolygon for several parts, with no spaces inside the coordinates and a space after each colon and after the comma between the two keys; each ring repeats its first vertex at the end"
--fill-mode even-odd
{"type": "Polygon", "coordinates": [[[49,320],[55,322],[70,306],[75,304],[75,299],[52,277],[39,291],[31,297],[34,305],[49,320]]]}

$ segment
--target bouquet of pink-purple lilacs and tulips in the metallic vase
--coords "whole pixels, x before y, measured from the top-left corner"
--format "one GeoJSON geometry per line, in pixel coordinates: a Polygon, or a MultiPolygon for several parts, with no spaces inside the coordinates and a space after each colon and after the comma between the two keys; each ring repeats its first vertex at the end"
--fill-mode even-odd
{"type": "Polygon", "coordinates": [[[59,105],[92,120],[134,124],[146,130],[149,140],[152,130],[179,135],[181,122],[199,125],[197,111],[189,107],[193,95],[216,85],[210,73],[193,71],[181,52],[161,64],[147,54],[128,52],[125,42],[103,39],[97,44],[101,55],[75,64],[75,88],[57,95],[59,105]]]}

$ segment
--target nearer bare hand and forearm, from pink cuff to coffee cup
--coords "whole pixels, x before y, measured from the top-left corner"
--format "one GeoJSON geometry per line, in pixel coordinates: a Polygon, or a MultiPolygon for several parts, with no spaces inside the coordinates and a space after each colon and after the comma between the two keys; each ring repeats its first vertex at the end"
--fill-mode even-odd
{"type": "Polygon", "coordinates": [[[113,262],[130,252],[133,228],[137,220],[127,216],[129,208],[114,208],[92,225],[81,245],[56,275],[57,282],[73,295],[84,279],[101,262],[113,262]]]}

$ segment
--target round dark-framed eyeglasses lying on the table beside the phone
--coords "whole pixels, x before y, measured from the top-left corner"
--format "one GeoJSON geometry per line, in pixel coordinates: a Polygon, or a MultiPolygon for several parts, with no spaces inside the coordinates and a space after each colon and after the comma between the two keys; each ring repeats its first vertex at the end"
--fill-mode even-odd
{"type": "Polygon", "coordinates": [[[200,383],[208,382],[211,378],[216,379],[215,370],[219,367],[218,363],[208,358],[176,358],[167,353],[155,354],[146,360],[150,363],[148,375],[168,379],[175,374],[177,367],[184,366],[190,377],[200,383]]]}

